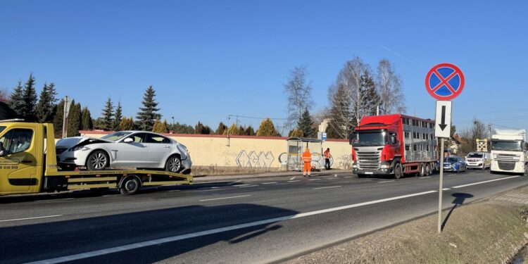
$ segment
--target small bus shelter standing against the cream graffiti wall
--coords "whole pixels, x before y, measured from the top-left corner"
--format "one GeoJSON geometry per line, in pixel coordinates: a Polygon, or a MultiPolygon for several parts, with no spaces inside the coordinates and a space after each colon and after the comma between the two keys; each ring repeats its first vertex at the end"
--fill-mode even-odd
{"type": "Polygon", "coordinates": [[[319,139],[310,139],[307,137],[289,137],[287,140],[288,160],[287,170],[303,170],[303,152],[308,147],[312,153],[312,168],[322,170],[325,168],[325,158],[322,156],[322,141],[319,139]]]}

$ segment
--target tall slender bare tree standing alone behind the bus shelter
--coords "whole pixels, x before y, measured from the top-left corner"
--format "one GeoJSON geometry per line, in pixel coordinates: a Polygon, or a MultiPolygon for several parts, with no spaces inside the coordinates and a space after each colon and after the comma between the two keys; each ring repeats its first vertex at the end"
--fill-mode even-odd
{"type": "Polygon", "coordinates": [[[310,110],[313,105],[312,86],[306,82],[306,66],[295,67],[290,71],[288,82],[284,84],[284,91],[288,96],[287,127],[293,127],[305,109],[310,110]]]}

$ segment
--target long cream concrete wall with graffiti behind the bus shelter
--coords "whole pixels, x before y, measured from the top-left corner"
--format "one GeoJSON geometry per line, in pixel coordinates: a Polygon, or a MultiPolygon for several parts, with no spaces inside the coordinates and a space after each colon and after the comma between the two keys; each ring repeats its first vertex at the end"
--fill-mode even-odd
{"type": "MultiPolygon", "coordinates": [[[[108,132],[80,131],[82,136],[103,137],[108,132]]],[[[191,153],[193,166],[236,167],[241,169],[285,170],[287,161],[286,137],[249,137],[165,134],[184,144],[191,153]]],[[[320,143],[310,144],[313,160],[321,159],[320,143]]],[[[329,139],[322,144],[330,148],[334,159],[332,168],[351,168],[351,146],[346,139],[329,139]]],[[[317,165],[317,164],[315,164],[317,165]]],[[[321,165],[321,166],[322,166],[321,165]]]]}

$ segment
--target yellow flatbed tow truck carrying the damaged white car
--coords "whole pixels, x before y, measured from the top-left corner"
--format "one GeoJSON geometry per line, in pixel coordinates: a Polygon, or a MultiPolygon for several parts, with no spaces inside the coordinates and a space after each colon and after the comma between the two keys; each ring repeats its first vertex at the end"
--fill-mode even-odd
{"type": "Polygon", "coordinates": [[[62,171],[57,166],[53,124],[0,122],[0,196],[39,192],[119,189],[192,184],[191,175],[161,170],[62,171]]]}

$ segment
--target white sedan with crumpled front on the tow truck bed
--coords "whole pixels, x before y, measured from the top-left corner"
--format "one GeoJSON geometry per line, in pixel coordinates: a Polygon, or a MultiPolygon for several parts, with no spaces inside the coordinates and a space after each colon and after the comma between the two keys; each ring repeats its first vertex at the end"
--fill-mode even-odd
{"type": "Polygon", "coordinates": [[[57,142],[56,154],[61,168],[156,168],[188,174],[192,165],[184,145],[161,134],[144,131],[120,131],[100,139],[68,137],[57,142]]]}

